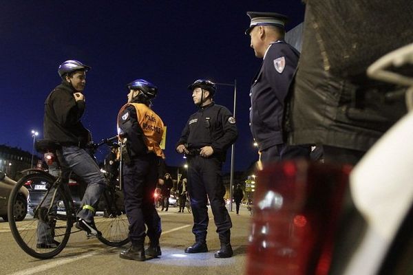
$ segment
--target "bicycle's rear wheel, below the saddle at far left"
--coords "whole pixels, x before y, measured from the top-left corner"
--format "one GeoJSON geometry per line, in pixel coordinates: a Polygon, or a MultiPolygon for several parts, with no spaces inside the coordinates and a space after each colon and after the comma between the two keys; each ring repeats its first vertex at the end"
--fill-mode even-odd
{"type": "Polygon", "coordinates": [[[72,208],[63,189],[59,187],[56,190],[53,200],[55,189],[44,198],[53,183],[54,178],[50,175],[26,175],[17,181],[8,201],[8,219],[14,239],[24,252],[37,259],[50,259],[59,254],[67,244],[72,228],[73,221],[67,217],[72,214],[72,208]],[[35,186],[42,186],[46,190],[36,192],[39,187],[35,186]],[[18,221],[13,206],[26,188],[29,190],[28,206],[32,209],[32,216],[18,221]]]}

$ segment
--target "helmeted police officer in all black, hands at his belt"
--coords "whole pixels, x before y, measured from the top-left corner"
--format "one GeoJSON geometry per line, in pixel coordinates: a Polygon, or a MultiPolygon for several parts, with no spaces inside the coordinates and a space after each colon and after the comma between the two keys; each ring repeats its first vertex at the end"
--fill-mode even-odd
{"type": "Polygon", "coordinates": [[[198,111],[193,113],[182,131],[176,151],[188,159],[188,193],[193,214],[192,232],[195,243],[186,253],[208,252],[208,199],[217,226],[221,248],[215,258],[233,256],[230,243],[231,218],[225,208],[225,187],[221,168],[226,150],[237,139],[237,127],[231,112],[213,102],[215,84],[209,80],[196,80],[188,87],[198,111]]]}

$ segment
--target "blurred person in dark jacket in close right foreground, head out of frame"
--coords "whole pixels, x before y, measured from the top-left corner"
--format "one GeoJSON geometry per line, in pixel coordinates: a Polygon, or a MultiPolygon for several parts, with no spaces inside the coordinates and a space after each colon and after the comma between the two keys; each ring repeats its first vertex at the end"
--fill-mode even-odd
{"type": "Polygon", "coordinates": [[[407,11],[413,3],[305,2],[303,45],[286,100],[284,133],[288,144],[323,146],[325,162],[356,164],[406,112],[405,88],[371,80],[366,69],[412,41],[413,18],[407,11]]]}

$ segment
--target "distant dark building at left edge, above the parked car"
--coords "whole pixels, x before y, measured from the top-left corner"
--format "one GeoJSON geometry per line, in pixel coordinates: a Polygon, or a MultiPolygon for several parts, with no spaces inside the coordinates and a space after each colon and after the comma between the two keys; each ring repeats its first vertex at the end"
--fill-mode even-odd
{"type": "MultiPolygon", "coordinates": [[[[39,157],[34,155],[34,166],[38,160],[39,157]]],[[[6,173],[11,179],[19,179],[22,176],[19,172],[30,168],[30,162],[32,162],[32,153],[23,151],[21,148],[0,144],[0,170],[6,173]]]]}

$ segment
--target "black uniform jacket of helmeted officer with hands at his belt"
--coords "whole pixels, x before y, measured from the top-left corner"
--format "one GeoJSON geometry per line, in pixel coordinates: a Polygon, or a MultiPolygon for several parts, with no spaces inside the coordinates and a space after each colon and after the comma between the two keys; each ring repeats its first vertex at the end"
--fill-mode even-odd
{"type": "Polygon", "coordinates": [[[212,157],[224,161],[226,150],[237,140],[237,136],[235,119],[229,109],[211,103],[189,117],[176,146],[186,144],[190,150],[211,146],[212,157]]]}

